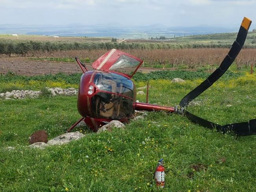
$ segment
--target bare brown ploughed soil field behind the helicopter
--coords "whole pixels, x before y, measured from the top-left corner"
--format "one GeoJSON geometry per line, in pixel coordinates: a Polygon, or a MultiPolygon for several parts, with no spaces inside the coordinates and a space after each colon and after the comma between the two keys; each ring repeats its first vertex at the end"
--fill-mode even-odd
{"type": "MultiPolygon", "coordinates": [[[[89,70],[92,69],[91,63],[86,63],[89,70]]],[[[140,68],[138,71],[150,72],[156,69],[140,68]]],[[[12,71],[17,75],[45,75],[62,72],[65,74],[81,73],[82,70],[76,63],[53,62],[53,61],[33,61],[28,58],[0,58],[0,74],[12,71]]]]}

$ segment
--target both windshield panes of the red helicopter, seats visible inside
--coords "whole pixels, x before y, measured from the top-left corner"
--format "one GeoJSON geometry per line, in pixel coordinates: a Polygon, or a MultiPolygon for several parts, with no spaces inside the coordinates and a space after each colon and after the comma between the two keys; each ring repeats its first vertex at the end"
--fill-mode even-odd
{"type": "Polygon", "coordinates": [[[96,72],[97,93],[91,97],[91,113],[97,118],[120,119],[133,112],[134,83],[119,74],[96,72]]]}

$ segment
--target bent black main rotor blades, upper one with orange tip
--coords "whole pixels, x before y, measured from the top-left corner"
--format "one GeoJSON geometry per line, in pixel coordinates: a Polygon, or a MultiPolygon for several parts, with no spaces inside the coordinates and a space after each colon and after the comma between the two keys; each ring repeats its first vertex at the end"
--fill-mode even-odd
{"type": "MultiPolygon", "coordinates": [[[[215,81],[217,81],[226,72],[226,70],[228,70],[242,49],[243,44],[245,43],[245,39],[247,37],[251,23],[252,21],[249,18],[243,18],[236,41],[234,41],[230,51],[228,52],[228,55],[226,55],[219,68],[217,68],[205,81],[203,81],[198,87],[189,92],[180,101],[180,107],[182,107],[182,109],[184,109],[189,104],[189,102],[191,102],[191,100],[195,99],[202,92],[211,87],[211,85],[215,83],[215,81]]],[[[192,113],[189,113],[186,110],[184,110],[183,113],[192,122],[200,124],[204,127],[208,127],[210,129],[216,128],[218,131],[222,131],[223,133],[234,131],[237,135],[240,136],[256,135],[256,119],[252,119],[249,122],[241,122],[221,126],[208,120],[202,119],[192,113]]]]}

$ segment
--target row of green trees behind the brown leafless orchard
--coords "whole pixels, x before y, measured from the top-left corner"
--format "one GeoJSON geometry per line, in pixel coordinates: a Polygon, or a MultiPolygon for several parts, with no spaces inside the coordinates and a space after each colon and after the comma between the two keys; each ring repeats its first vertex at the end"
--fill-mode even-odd
{"type": "MultiPolygon", "coordinates": [[[[59,50],[98,50],[98,49],[184,49],[184,48],[230,48],[230,44],[174,44],[147,42],[51,42],[51,41],[13,41],[0,39],[0,54],[17,54],[26,56],[28,53],[54,52],[59,50]]],[[[255,45],[245,45],[245,48],[256,48],[255,45]]]]}

